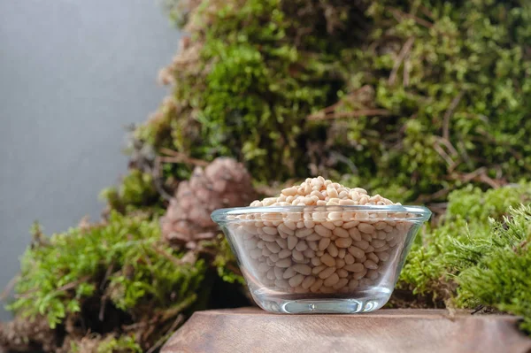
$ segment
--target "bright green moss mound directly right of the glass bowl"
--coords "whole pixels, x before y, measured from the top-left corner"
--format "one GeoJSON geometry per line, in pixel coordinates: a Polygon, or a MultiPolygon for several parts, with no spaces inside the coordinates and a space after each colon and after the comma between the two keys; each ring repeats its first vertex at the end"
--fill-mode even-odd
{"type": "Polygon", "coordinates": [[[478,244],[490,237],[489,219],[500,221],[511,207],[531,203],[531,184],[520,183],[482,192],[469,186],[452,192],[439,225],[420,231],[398,283],[415,294],[449,299],[454,274],[473,265],[486,249],[478,244]],[[469,244],[473,240],[473,246],[469,244]]]}

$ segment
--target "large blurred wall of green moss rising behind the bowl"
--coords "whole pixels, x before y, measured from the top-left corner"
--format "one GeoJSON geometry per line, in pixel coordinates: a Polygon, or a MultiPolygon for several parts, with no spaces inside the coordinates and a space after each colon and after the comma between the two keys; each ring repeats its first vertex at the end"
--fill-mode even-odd
{"type": "Polygon", "coordinates": [[[326,174],[404,202],[518,181],[530,18],[522,1],[204,1],[186,17],[198,55],[137,137],[236,157],[256,180],[326,174]]]}

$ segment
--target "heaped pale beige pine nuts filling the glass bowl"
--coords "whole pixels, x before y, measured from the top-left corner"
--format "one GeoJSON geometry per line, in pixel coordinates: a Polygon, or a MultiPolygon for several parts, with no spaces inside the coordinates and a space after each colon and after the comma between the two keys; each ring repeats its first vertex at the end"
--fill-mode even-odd
{"type": "Polygon", "coordinates": [[[394,278],[412,215],[342,206],[394,204],[399,203],[368,196],[363,188],[308,178],[278,197],[250,204],[305,208],[232,216],[239,221],[229,228],[243,271],[258,286],[301,294],[350,293],[378,285],[386,276],[394,278]]]}

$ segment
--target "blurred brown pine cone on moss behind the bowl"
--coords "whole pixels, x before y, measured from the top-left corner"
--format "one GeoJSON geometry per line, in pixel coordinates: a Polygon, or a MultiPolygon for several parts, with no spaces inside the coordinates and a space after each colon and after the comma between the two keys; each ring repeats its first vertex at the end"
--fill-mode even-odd
{"type": "Polygon", "coordinates": [[[195,249],[197,242],[212,239],[218,229],[212,211],[248,205],[256,198],[250,180],[245,167],[232,158],[216,158],[204,170],[196,167],[190,180],[181,181],[161,219],[165,241],[195,249]]]}

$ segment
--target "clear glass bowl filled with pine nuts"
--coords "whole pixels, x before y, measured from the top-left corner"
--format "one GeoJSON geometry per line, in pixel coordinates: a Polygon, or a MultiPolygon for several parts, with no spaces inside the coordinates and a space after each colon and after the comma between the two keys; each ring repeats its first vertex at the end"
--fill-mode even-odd
{"type": "Polygon", "coordinates": [[[419,206],[239,207],[212,212],[266,311],[354,313],[388,302],[419,206]]]}

